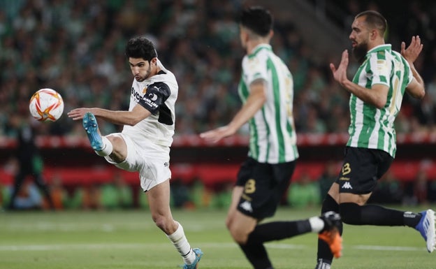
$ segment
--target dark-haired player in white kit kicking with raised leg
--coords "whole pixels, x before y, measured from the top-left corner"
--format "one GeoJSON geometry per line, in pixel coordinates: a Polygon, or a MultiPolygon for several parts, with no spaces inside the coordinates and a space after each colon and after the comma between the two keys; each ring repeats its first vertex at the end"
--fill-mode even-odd
{"type": "Polygon", "coordinates": [[[118,168],[139,172],[140,186],[147,194],[154,223],[180,252],[183,268],[198,268],[203,252],[191,249],[182,225],[170,212],[169,161],[177,81],[157,59],[153,43],[143,36],[129,40],[126,57],[134,76],[129,110],[75,108],[68,112],[68,117],[82,120],[96,154],[118,168]],[[121,133],[102,136],[96,119],[124,125],[124,128],[121,133]]]}

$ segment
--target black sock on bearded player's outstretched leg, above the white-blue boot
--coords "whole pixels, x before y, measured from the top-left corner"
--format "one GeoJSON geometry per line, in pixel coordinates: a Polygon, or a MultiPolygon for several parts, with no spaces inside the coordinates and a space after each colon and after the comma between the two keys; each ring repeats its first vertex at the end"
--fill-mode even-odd
{"type": "Polygon", "coordinates": [[[379,205],[339,205],[342,221],[352,225],[410,226],[414,227],[421,219],[420,214],[384,208],[379,205]]]}

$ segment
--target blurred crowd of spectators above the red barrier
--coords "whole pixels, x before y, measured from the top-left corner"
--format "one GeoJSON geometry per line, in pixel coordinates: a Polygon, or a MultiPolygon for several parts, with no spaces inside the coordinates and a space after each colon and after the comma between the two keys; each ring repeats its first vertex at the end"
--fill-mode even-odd
{"type": "MultiPolygon", "coordinates": [[[[258,3],[259,1],[255,1],[258,3]]],[[[312,1],[313,5],[320,1],[312,1]]],[[[342,1],[340,21],[349,34],[349,16],[382,6],[372,1],[342,1]]],[[[176,135],[196,134],[221,126],[240,107],[237,93],[240,59],[238,10],[250,1],[238,0],[0,0],[0,136],[14,136],[15,115],[29,115],[31,95],[37,89],[56,89],[65,110],[128,107],[133,77],[124,57],[132,36],[147,35],[159,59],[175,73],[180,91],[176,106],[176,135]]],[[[266,1],[266,3],[268,3],[266,1]]],[[[340,3],[340,2],[337,2],[340,3]]],[[[267,4],[268,5],[268,4],[267,4]]],[[[400,48],[419,34],[425,52],[416,61],[428,94],[421,102],[406,97],[398,116],[400,133],[433,131],[436,122],[435,8],[430,1],[407,1],[398,15],[384,13],[391,24],[388,42],[400,48]],[[408,13],[405,15],[404,13],[408,13]],[[401,22],[398,22],[401,18],[401,22]],[[432,27],[433,26],[433,27],[432,27]]],[[[390,7],[392,8],[392,7],[390,7]]],[[[271,8],[273,14],[275,10],[271,8]]],[[[330,16],[330,17],[329,17],[330,16]]],[[[299,133],[346,132],[348,94],[333,82],[328,61],[312,59],[310,44],[286,16],[276,17],[273,48],[294,78],[294,115],[299,133]]],[[[352,67],[352,66],[351,66],[352,67]]],[[[102,122],[102,132],[118,126],[102,122]]],[[[80,124],[61,117],[40,124],[41,134],[83,135],[80,124]]]]}

